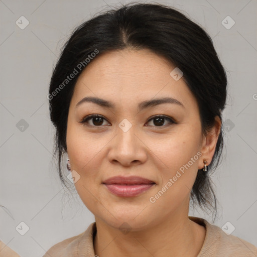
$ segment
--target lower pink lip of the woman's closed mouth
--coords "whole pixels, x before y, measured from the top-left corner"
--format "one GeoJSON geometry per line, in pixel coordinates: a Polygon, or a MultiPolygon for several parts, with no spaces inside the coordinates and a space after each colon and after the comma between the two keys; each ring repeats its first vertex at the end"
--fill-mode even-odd
{"type": "Polygon", "coordinates": [[[140,185],[121,185],[121,184],[104,184],[107,189],[117,195],[123,197],[131,197],[139,195],[149,190],[155,184],[140,184],[140,185]]]}

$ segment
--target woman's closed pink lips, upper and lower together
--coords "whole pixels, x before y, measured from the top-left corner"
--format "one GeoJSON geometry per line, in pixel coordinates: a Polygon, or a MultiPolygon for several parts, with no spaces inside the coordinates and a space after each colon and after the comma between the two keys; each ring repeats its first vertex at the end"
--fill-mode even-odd
{"type": "Polygon", "coordinates": [[[149,190],[155,182],[142,177],[116,176],[103,182],[107,189],[117,196],[131,197],[149,190]]]}

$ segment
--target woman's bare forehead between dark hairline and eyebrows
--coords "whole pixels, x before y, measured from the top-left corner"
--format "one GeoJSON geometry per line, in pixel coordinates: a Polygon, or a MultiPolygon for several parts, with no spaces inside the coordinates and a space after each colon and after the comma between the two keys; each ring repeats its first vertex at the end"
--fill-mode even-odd
{"type": "Polygon", "coordinates": [[[170,96],[184,105],[196,104],[183,77],[176,81],[170,75],[174,68],[164,57],[145,49],[99,54],[80,74],[73,100],[90,95],[132,103],[170,96]]]}

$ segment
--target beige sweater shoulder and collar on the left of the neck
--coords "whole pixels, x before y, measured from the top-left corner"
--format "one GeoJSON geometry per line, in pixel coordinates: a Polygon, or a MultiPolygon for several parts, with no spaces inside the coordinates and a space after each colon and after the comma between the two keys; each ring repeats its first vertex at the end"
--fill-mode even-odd
{"type": "Polygon", "coordinates": [[[93,250],[93,230],[95,222],[91,223],[88,228],[76,236],[67,238],[53,245],[43,257],[71,257],[80,256],[87,252],[87,249],[93,250]]]}

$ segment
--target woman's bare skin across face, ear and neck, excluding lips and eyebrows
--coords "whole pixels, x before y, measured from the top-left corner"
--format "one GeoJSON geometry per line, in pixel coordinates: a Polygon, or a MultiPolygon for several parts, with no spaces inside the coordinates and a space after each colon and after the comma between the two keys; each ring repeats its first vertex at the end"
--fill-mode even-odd
{"type": "Polygon", "coordinates": [[[189,220],[189,199],[197,170],[213,157],[220,119],[205,137],[197,102],[183,77],[170,76],[175,67],[149,50],[112,51],[92,60],[78,78],[67,122],[67,154],[71,170],[80,175],[76,190],[94,214],[97,234],[95,253],[105,256],[197,256],[205,228],[189,220]],[[111,101],[108,109],[95,103],[76,104],[85,96],[111,101]],[[173,97],[178,104],[163,103],[139,111],[138,104],[159,97],[173,97]],[[103,116],[102,123],[90,114],[103,116]],[[166,115],[158,126],[153,115],[166,115]],[[118,124],[127,119],[132,127],[123,132],[118,124]],[[100,125],[99,125],[100,124],[100,125]],[[91,125],[91,126],[90,126],[91,125]],[[176,172],[200,152],[155,203],[150,197],[162,190],[176,172]],[[150,190],[134,197],[119,197],[102,184],[113,176],[141,176],[153,180],[150,190]],[[129,232],[119,226],[126,222],[129,232]]]}

